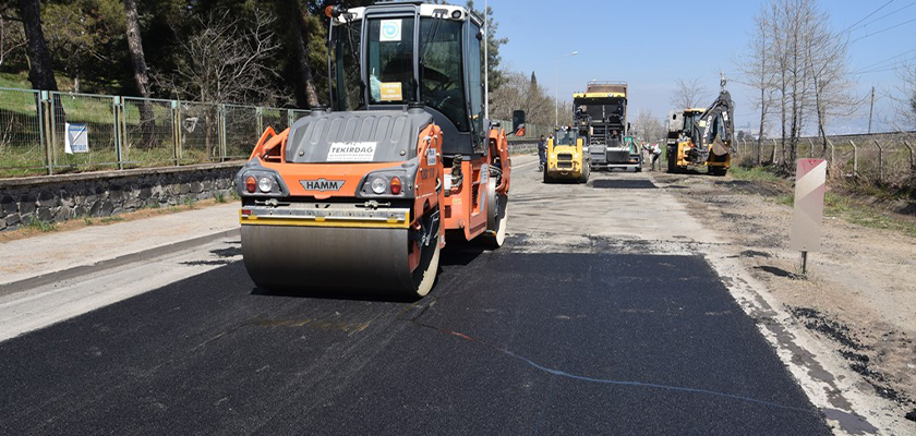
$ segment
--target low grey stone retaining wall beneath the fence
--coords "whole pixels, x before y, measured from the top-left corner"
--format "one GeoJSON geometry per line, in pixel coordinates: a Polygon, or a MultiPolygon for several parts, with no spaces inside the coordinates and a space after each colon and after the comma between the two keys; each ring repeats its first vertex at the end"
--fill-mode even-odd
{"type": "Polygon", "coordinates": [[[242,162],[0,180],[0,231],[227,197],[242,162]]]}

